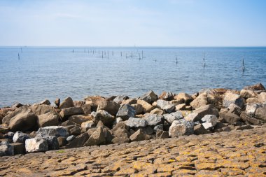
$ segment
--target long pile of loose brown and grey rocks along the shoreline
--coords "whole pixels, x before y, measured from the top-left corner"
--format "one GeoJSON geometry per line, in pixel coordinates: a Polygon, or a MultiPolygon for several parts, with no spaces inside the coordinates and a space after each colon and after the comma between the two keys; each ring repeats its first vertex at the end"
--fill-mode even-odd
{"type": "Polygon", "coordinates": [[[0,155],[45,152],[191,134],[252,129],[266,122],[262,84],[193,95],[153,91],[139,99],[86,97],[44,100],[0,109],[0,155]]]}

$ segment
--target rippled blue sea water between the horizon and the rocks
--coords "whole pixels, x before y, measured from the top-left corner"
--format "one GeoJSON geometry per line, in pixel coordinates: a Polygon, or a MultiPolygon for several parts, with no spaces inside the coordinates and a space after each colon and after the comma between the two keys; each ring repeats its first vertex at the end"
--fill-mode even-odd
{"type": "Polygon", "coordinates": [[[266,85],[266,48],[5,47],[0,76],[0,107],[95,94],[139,97],[148,90],[239,90],[266,85]]]}

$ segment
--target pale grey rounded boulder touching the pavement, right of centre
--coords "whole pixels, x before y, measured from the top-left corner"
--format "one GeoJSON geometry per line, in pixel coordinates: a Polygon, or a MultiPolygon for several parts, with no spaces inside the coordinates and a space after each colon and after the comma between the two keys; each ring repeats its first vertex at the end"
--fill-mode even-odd
{"type": "Polygon", "coordinates": [[[193,127],[194,127],[194,122],[192,121],[187,121],[184,119],[174,120],[174,122],[169,128],[169,136],[179,137],[182,135],[193,134],[194,131],[193,127]]]}

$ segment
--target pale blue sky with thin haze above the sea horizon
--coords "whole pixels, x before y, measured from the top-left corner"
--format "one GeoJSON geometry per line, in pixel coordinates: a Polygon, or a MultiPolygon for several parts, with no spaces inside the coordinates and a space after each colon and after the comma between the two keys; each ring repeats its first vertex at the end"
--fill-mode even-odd
{"type": "Polygon", "coordinates": [[[0,0],[1,46],[266,46],[264,0],[0,0]]]}

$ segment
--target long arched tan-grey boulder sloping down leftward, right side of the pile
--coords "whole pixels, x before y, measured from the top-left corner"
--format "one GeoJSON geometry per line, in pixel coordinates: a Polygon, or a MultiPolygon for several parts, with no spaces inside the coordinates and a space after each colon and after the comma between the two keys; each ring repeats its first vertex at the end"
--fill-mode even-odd
{"type": "Polygon", "coordinates": [[[216,115],[219,116],[219,111],[217,108],[212,106],[211,104],[201,106],[193,111],[193,113],[188,114],[184,119],[188,121],[197,122],[200,121],[205,115],[216,115]]]}

